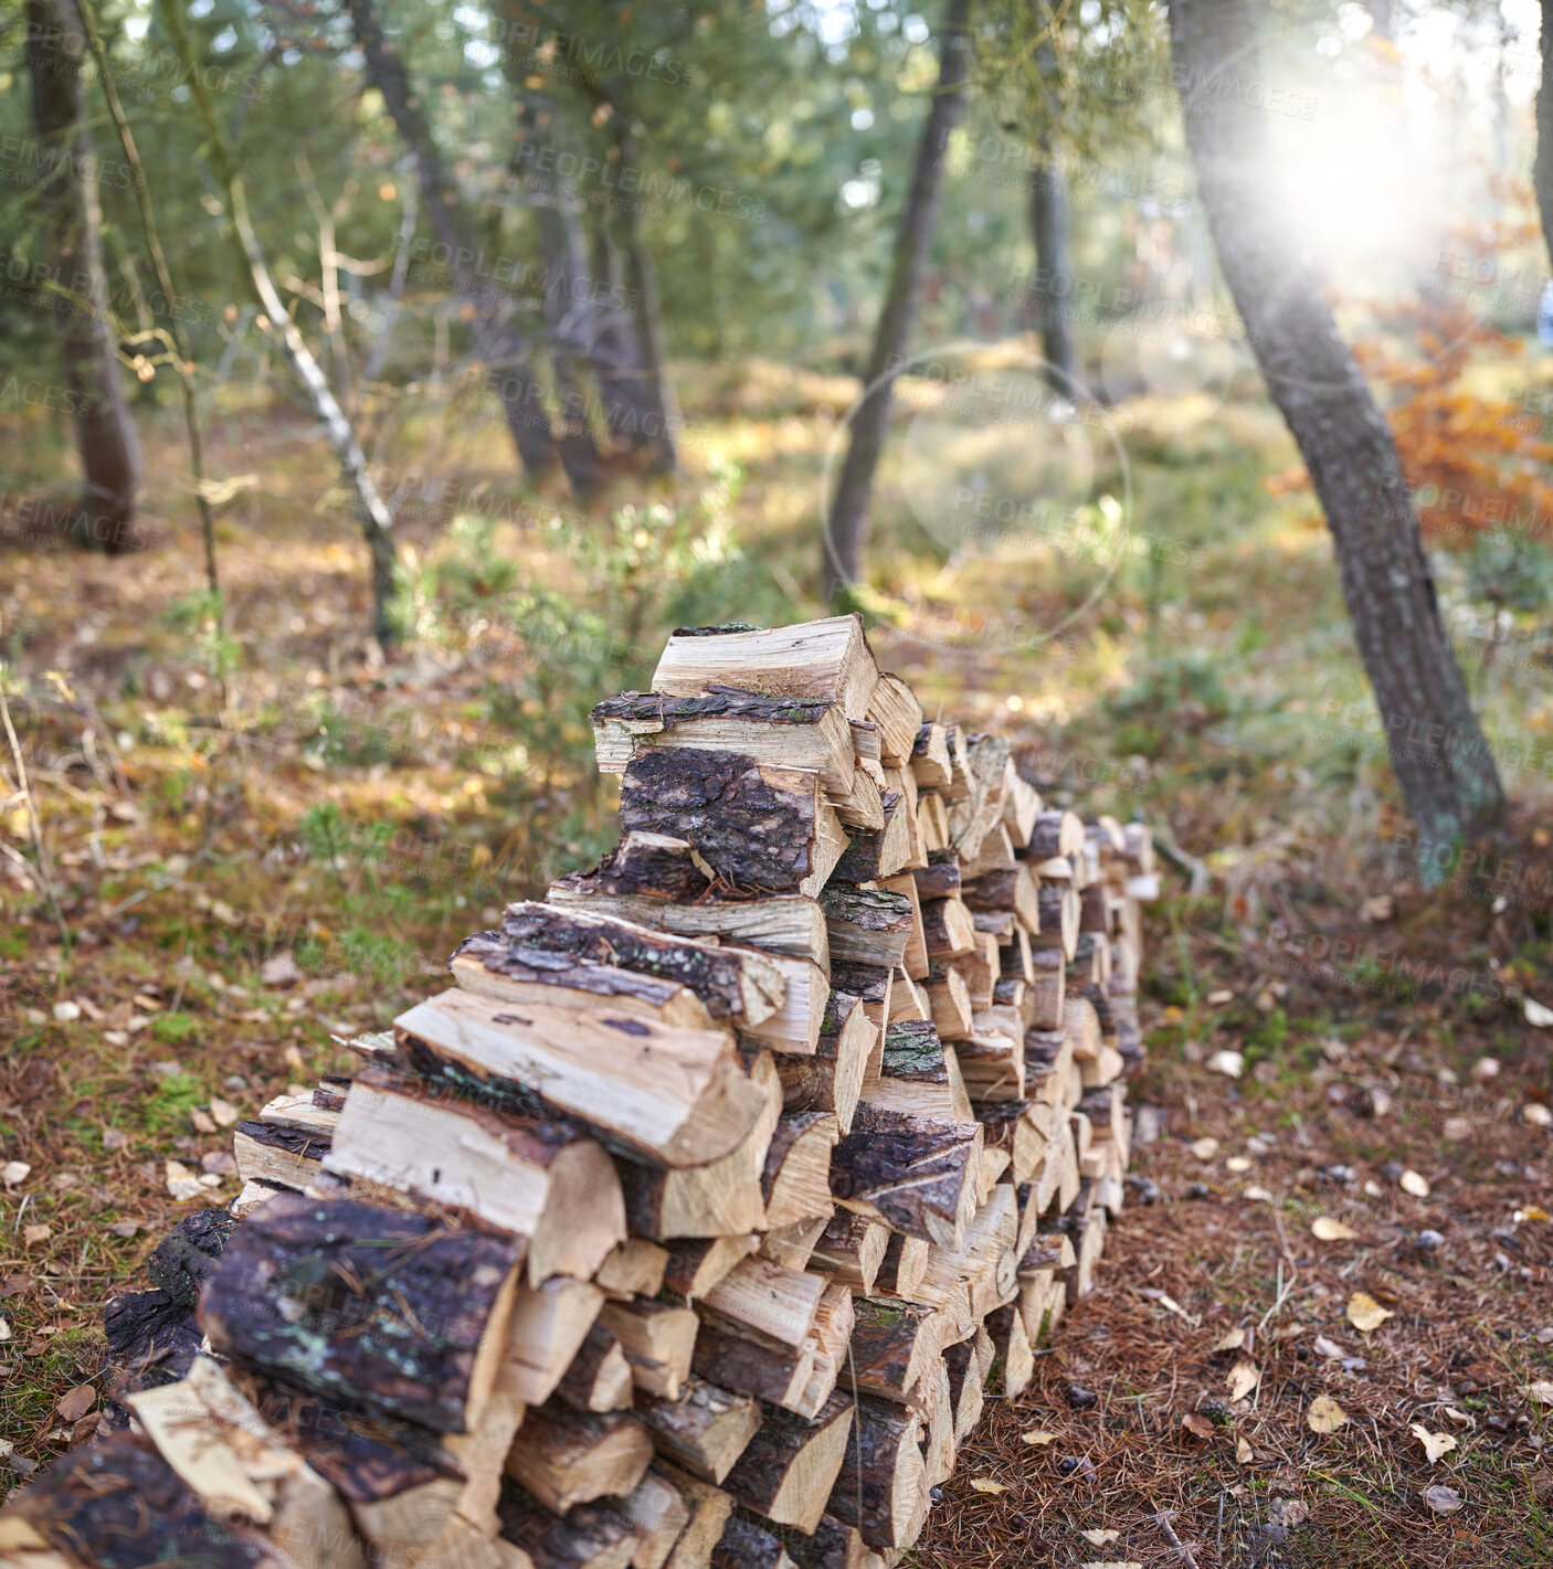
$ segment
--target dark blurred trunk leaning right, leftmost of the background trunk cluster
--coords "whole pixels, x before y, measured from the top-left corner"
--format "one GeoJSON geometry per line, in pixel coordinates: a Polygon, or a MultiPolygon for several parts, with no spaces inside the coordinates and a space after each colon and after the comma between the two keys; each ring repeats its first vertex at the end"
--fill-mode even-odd
{"type": "Polygon", "coordinates": [[[366,58],[367,77],[383,94],[400,141],[415,160],[421,206],[437,243],[448,251],[454,289],[476,308],[477,351],[490,364],[488,381],[501,399],[502,416],[518,460],[532,479],[540,479],[556,457],[550,416],[540,384],[531,369],[531,355],[504,322],[501,301],[481,287],[474,270],[479,256],[474,226],[470,223],[459,187],[437,149],[432,126],[410,85],[410,72],[383,36],[372,0],[345,0],[350,27],[366,58]]]}

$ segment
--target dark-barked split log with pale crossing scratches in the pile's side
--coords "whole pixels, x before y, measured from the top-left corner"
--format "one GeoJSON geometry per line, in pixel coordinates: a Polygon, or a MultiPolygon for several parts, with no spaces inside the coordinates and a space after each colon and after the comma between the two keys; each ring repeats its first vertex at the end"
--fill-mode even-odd
{"type": "Polygon", "coordinates": [[[975,1203],[981,1125],[925,1122],[861,1106],[831,1155],[831,1191],[897,1232],[959,1246],[975,1203]]]}

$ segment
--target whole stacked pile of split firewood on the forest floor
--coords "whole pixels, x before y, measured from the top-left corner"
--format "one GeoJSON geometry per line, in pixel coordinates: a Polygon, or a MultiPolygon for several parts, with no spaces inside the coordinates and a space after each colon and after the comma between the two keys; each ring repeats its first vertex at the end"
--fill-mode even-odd
{"type": "Polygon", "coordinates": [[[856,617],[678,632],[594,725],[619,847],[237,1130],[13,1555],[893,1564],[1024,1390],[1123,1205],[1148,830],[856,617]]]}

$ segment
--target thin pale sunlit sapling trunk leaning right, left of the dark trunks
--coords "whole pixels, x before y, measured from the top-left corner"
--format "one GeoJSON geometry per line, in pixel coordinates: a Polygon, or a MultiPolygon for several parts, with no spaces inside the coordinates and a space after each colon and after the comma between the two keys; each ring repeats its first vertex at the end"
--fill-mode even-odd
{"type": "Polygon", "coordinates": [[[188,38],[188,25],[184,16],[187,0],[159,0],[166,35],[177,53],[179,64],[188,88],[193,93],[195,108],[199,111],[199,124],[206,133],[206,155],[210,162],[210,173],[215,176],[221,193],[226,196],[226,215],[232,223],[232,235],[237,243],[239,259],[248,275],[253,292],[270,319],[281,353],[297,375],[312,403],[323,435],[334,453],[350,488],[356,496],[356,511],[361,519],[361,532],[366,537],[367,554],[372,559],[372,629],[378,643],[385,648],[399,640],[399,629],[393,618],[394,577],[397,568],[397,552],[394,549],[394,519],[377,491],[377,485],[367,471],[366,455],[350,420],[330,391],[328,378],[319,367],[312,350],[286,309],[275,278],[270,275],[269,262],[259,245],[253,223],[248,218],[248,196],[243,190],[242,176],[232,165],[231,149],[226,144],[226,133],[217,118],[215,105],[204,85],[204,78],[196,69],[193,42],[188,38]]]}

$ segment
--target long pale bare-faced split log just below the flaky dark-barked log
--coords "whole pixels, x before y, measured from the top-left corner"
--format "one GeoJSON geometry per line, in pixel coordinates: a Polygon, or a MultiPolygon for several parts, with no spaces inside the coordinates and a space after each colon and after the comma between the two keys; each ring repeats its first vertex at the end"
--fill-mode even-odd
{"type": "Polygon", "coordinates": [[[729,1037],[444,992],[396,1020],[413,1067],[526,1116],[559,1112],[664,1166],[718,1159],[765,1108],[729,1037]]]}

